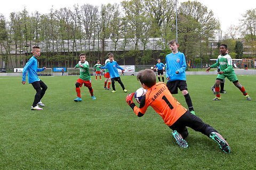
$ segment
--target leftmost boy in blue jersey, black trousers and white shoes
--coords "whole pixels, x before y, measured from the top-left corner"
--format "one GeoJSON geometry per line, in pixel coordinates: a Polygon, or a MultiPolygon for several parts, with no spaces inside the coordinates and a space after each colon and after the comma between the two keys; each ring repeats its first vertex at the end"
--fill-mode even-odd
{"type": "Polygon", "coordinates": [[[38,107],[38,104],[40,106],[44,106],[44,104],[41,102],[41,99],[43,98],[45,91],[47,90],[47,86],[41,79],[38,78],[37,72],[43,71],[44,69],[46,69],[46,67],[42,69],[37,68],[37,58],[39,58],[41,54],[40,47],[34,46],[32,53],[33,56],[28,60],[26,66],[23,68],[22,84],[26,83],[26,74],[28,71],[28,83],[33,85],[36,90],[36,95],[33,105],[31,106],[31,110],[43,110],[42,108],[38,107]]]}

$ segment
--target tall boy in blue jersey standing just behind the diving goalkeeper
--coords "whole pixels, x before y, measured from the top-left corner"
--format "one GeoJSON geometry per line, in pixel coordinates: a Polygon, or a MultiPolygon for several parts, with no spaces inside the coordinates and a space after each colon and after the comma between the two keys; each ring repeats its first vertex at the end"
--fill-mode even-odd
{"type": "Polygon", "coordinates": [[[186,59],[185,55],[178,51],[179,44],[173,39],[169,42],[171,54],[166,55],[166,78],[167,87],[172,94],[178,93],[178,88],[182,91],[185,97],[188,109],[191,114],[195,114],[194,107],[188,94],[188,87],[186,83],[186,59]]]}

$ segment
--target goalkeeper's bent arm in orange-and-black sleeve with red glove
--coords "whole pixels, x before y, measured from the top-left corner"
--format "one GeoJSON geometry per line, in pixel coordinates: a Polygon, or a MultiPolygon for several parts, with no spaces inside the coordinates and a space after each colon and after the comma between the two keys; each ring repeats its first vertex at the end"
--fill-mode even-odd
{"type": "Polygon", "coordinates": [[[134,113],[138,116],[141,117],[145,114],[147,108],[148,108],[148,102],[146,102],[146,95],[142,96],[142,99],[140,101],[140,107],[138,108],[137,106],[135,106],[135,104],[132,101],[134,93],[130,93],[127,95],[126,97],[126,102],[127,104],[129,104],[129,106],[132,108],[132,110],[134,111],[134,113]]]}

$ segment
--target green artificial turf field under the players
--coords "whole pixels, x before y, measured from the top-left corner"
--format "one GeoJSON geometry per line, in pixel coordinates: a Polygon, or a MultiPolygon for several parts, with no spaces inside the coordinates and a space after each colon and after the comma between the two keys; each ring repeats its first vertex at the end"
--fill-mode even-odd
{"type": "MultiPolygon", "coordinates": [[[[188,128],[189,148],[179,147],[162,117],[151,107],[137,117],[125,102],[127,93],[116,82],[116,93],[92,87],[97,100],[81,88],[78,76],[41,76],[48,89],[43,110],[32,111],[35,90],[21,77],[0,77],[1,169],[256,169],[256,75],[237,75],[252,100],[247,101],[226,80],[227,94],[212,101],[215,75],[187,75],[196,115],[219,131],[231,153],[209,137],[188,128]]],[[[140,87],[135,76],[121,76],[128,92],[140,87]]],[[[173,95],[187,108],[182,93],[173,95]]],[[[135,100],[133,100],[135,103],[135,100]]],[[[136,103],[139,106],[138,103],[136,103]]]]}

